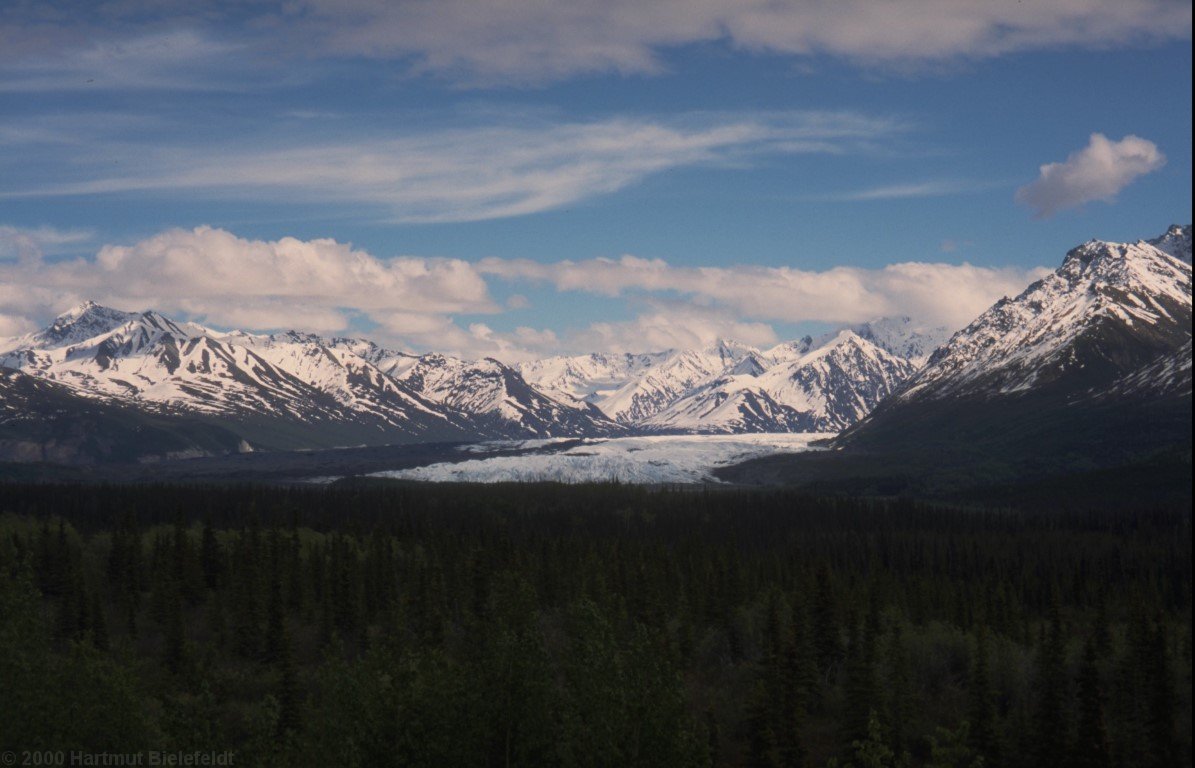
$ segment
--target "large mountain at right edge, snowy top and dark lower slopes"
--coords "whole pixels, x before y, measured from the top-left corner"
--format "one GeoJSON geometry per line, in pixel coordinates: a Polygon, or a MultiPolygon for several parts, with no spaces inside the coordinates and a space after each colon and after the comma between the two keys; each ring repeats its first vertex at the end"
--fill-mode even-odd
{"type": "Polygon", "coordinates": [[[838,444],[1093,466],[1189,450],[1189,242],[1187,227],[1072,250],[955,333],[838,444]]]}

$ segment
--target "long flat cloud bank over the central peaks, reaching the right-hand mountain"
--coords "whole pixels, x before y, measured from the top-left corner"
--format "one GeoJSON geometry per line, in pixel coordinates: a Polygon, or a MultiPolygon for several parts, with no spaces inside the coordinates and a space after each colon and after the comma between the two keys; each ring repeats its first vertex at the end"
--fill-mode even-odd
{"type": "Polygon", "coordinates": [[[477,269],[483,275],[603,296],[676,294],[760,320],[859,322],[877,315],[908,314],[955,326],[974,319],[997,299],[1019,293],[1043,274],[1041,269],[921,262],[821,271],[758,265],[675,266],[636,256],[554,263],[491,258],[480,260],[477,269]]]}

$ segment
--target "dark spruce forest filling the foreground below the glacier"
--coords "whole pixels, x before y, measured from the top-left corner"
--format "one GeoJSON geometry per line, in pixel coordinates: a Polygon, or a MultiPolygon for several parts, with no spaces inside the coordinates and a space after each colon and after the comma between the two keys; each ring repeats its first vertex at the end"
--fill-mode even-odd
{"type": "Polygon", "coordinates": [[[16,764],[1170,768],[1190,718],[1189,504],[0,486],[16,764]]]}

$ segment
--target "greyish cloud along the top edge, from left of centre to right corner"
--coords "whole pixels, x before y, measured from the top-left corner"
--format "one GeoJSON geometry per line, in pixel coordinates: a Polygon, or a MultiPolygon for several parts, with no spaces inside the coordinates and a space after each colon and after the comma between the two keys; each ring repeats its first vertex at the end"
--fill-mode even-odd
{"type": "Polygon", "coordinates": [[[860,62],[985,59],[1190,36],[1177,0],[306,0],[296,23],[325,53],[413,57],[466,84],[583,73],[652,74],[661,54],[721,41],[748,50],[860,62]]]}

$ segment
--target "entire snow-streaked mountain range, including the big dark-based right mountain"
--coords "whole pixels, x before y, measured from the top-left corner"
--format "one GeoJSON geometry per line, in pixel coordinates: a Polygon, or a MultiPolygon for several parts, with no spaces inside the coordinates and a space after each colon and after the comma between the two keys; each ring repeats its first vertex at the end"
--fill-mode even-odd
{"type": "MultiPolygon", "coordinates": [[[[1190,296],[1187,226],[1084,244],[954,334],[881,318],[771,349],[719,340],[508,365],[85,302],[0,339],[0,459],[783,431],[838,432],[847,453],[943,455],[1011,434],[1066,454],[1056,435],[1116,432],[1116,454],[1179,440],[1190,296]]],[[[1189,416],[1183,429],[1189,442],[1189,416]]]]}

